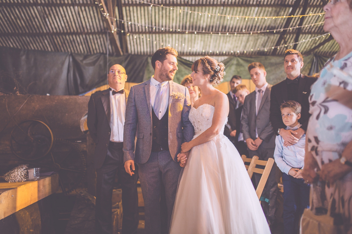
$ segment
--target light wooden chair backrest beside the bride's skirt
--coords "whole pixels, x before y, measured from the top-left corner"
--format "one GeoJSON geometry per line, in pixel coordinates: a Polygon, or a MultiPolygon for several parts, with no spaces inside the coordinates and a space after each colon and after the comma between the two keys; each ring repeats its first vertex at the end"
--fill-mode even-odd
{"type": "Polygon", "coordinates": [[[275,160],[272,158],[269,158],[268,161],[259,160],[258,156],[253,156],[253,158],[251,159],[251,164],[247,169],[249,178],[252,178],[252,175],[254,172],[262,174],[262,177],[260,178],[256,189],[258,199],[262,195],[266,180],[268,180],[269,173],[271,171],[272,165],[274,165],[274,162],[275,160]],[[256,168],[257,165],[265,166],[265,168],[264,169],[256,168]]]}

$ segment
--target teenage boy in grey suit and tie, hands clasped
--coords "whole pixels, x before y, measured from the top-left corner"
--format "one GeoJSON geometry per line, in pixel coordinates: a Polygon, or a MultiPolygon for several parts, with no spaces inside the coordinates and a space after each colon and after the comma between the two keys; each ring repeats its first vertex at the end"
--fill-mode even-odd
{"type": "MultiPolygon", "coordinates": [[[[266,82],[266,71],[262,63],[252,62],[248,65],[248,71],[256,89],[244,100],[241,118],[243,138],[250,158],[257,155],[260,160],[268,160],[274,158],[275,150],[275,133],[269,121],[271,85],[266,82]]],[[[275,222],[276,167],[274,164],[262,193],[262,208],[269,225],[275,222]]],[[[260,174],[254,173],[254,176],[257,186],[260,174]]]]}

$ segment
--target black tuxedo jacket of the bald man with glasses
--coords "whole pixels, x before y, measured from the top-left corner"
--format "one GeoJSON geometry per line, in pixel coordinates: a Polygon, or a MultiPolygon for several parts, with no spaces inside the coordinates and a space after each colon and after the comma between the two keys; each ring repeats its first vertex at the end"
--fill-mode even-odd
{"type": "MultiPolygon", "coordinates": [[[[126,101],[128,91],[124,89],[126,101]]],[[[111,134],[110,90],[98,91],[90,96],[88,102],[87,126],[95,142],[94,166],[101,168],[108,152],[111,134]]]]}

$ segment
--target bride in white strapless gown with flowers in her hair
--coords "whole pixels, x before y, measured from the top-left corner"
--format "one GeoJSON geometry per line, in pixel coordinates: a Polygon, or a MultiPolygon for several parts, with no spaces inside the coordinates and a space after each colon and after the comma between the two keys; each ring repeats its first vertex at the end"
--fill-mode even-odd
{"type": "Polygon", "coordinates": [[[224,68],[209,56],[192,65],[191,78],[202,97],[189,112],[195,136],[181,146],[181,152],[190,152],[177,188],[170,234],[270,233],[244,163],[223,134],[228,98],[213,85],[223,80],[224,68]]]}

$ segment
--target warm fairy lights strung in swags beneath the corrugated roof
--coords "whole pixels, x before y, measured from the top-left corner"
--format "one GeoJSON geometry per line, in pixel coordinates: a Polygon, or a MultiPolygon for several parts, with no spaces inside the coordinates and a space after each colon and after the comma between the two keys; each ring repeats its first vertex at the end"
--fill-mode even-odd
{"type": "MultiPolygon", "coordinates": [[[[240,15],[223,15],[223,14],[212,14],[212,13],[204,13],[204,12],[196,12],[196,11],[188,11],[188,10],[184,10],[184,9],[180,9],[180,8],[173,8],[173,7],[168,7],[168,6],[163,6],[163,5],[157,5],[157,4],[152,4],[152,3],[149,3],[149,2],[146,2],[146,1],[140,1],[140,0],[135,0],[137,2],[141,2],[141,3],[146,3],[146,4],[149,4],[150,7],[153,7],[153,6],[157,6],[157,7],[164,7],[164,8],[169,8],[171,10],[179,10],[180,13],[182,12],[188,12],[188,13],[195,13],[195,14],[204,14],[204,15],[208,15],[209,17],[210,16],[226,16],[228,19],[230,18],[245,18],[246,20],[248,18],[250,19],[254,19],[257,20],[257,19],[281,19],[281,18],[294,18],[294,17],[303,17],[303,16],[314,16],[314,15],[319,15],[321,16],[322,14],[325,14],[325,13],[315,13],[315,14],[312,14],[312,12],[310,14],[306,14],[306,15],[291,15],[291,16],[240,16],[240,15]]],[[[99,6],[101,6],[102,4],[99,2],[95,2],[96,4],[98,4],[99,6]]],[[[168,28],[168,27],[162,27],[162,26],[156,26],[156,25],[146,25],[146,24],[140,24],[140,23],[137,23],[137,22],[132,22],[132,21],[125,21],[125,20],[120,20],[120,19],[117,19],[117,18],[113,18],[111,16],[109,16],[108,13],[105,13],[103,12],[103,8],[100,8],[100,12],[102,13],[102,15],[104,17],[106,17],[107,19],[110,18],[111,20],[114,20],[114,21],[120,21],[122,24],[129,24],[129,25],[135,25],[135,26],[138,26],[138,27],[145,27],[146,29],[148,28],[152,28],[154,32],[175,32],[175,33],[180,33],[180,34],[197,34],[197,33],[202,33],[202,34],[210,34],[210,35],[218,35],[218,36],[223,36],[223,35],[237,35],[237,34],[247,34],[247,35],[253,35],[253,34],[260,34],[260,33],[268,33],[268,32],[273,32],[273,33],[279,33],[279,32],[283,32],[284,30],[288,31],[288,30],[292,30],[292,29],[296,29],[296,28],[304,28],[304,27],[311,27],[311,26],[315,26],[315,25],[322,25],[324,23],[324,21],[322,22],[317,22],[317,23],[313,23],[313,24],[308,24],[308,25],[302,25],[302,26],[294,26],[294,27],[288,27],[288,28],[278,28],[278,29],[268,29],[268,30],[259,30],[259,31],[245,31],[245,29],[243,29],[242,31],[237,31],[237,32],[219,32],[219,31],[196,31],[196,30],[185,30],[185,29],[180,29],[180,28],[168,28]],[[160,31],[161,30],[161,31],[160,31]]],[[[113,25],[112,25],[112,28],[113,28],[113,31],[112,32],[116,32],[116,31],[119,31],[121,33],[126,33],[127,36],[133,36],[135,39],[138,37],[140,38],[144,38],[144,35],[140,35],[141,33],[131,33],[131,32],[126,32],[124,30],[121,30],[119,28],[115,28],[113,25]]],[[[149,32],[145,32],[146,34],[149,33],[149,32]]],[[[285,44],[285,45],[279,45],[279,46],[268,46],[268,47],[263,47],[263,48],[251,48],[251,49],[243,49],[243,50],[237,50],[237,53],[247,53],[247,51],[254,51],[254,50],[264,50],[264,51],[268,51],[268,49],[279,49],[281,47],[288,47],[288,46],[293,46],[295,44],[300,44],[302,42],[306,42],[306,41],[312,41],[312,40],[319,40],[319,38],[324,38],[325,36],[327,35],[330,35],[330,33],[325,33],[325,34],[322,34],[322,35],[319,35],[319,36],[315,36],[313,38],[309,38],[309,39],[303,39],[301,41],[297,41],[297,42],[294,42],[294,43],[289,43],[289,44],[285,44]]],[[[148,41],[150,41],[150,38],[147,38],[148,41]]],[[[154,41],[154,44],[157,44],[157,41],[154,41]]],[[[163,42],[159,42],[159,44],[161,46],[164,45],[163,42]]],[[[166,44],[165,44],[166,45],[166,44]]],[[[170,44],[168,45],[170,46],[170,44]]],[[[176,46],[178,46],[178,44],[176,44],[176,46]]],[[[182,44],[183,47],[185,47],[184,44],[182,44]]],[[[187,46],[186,46],[187,48],[187,46]]],[[[191,49],[191,47],[188,47],[189,50],[191,49]]],[[[206,52],[204,49],[202,50],[202,52],[206,52]]],[[[215,51],[213,50],[208,50],[207,52],[210,52],[210,53],[215,53],[215,51]]],[[[219,52],[218,50],[216,51],[217,54],[221,54],[221,52],[219,52]]],[[[226,52],[223,51],[223,53],[225,54],[226,52]]],[[[229,52],[228,52],[229,53],[229,52]]],[[[231,53],[236,53],[236,51],[231,51],[231,53]]]]}

